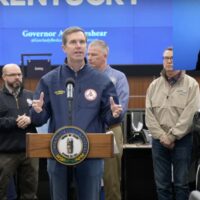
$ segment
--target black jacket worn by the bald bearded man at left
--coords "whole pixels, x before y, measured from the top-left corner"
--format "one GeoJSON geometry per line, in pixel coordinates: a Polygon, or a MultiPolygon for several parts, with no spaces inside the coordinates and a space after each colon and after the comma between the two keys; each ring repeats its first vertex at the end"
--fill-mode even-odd
{"type": "Polygon", "coordinates": [[[27,99],[32,99],[32,92],[21,89],[17,99],[4,87],[0,91],[0,152],[25,152],[26,133],[36,133],[35,127],[30,124],[26,129],[17,127],[18,115],[29,116],[27,99]]]}

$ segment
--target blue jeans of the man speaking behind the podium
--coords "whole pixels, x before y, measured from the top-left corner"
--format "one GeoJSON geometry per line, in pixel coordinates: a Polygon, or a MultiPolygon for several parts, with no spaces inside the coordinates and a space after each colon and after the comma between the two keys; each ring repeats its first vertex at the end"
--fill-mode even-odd
{"type": "MultiPolygon", "coordinates": [[[[47,160],[52,200],[68,199],[69,168],[54,159],[47,160]]],[[[74,167],[78,200],[99,200],[101,178],[103,176],[102,159],[86,159],[74,167]]]]}

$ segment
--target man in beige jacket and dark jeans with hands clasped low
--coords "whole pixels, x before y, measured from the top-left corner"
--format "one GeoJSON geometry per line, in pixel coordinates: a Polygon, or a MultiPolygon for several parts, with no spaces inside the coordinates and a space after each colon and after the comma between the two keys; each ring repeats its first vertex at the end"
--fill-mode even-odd
{"type": "Polygon", "coordinates": [[[163,67],[146,95],[157,194],[159,200],[172,200],[174,191],[176,200],[188,200],[191,126],[199,108],[199,85],[185,71],[173,69],[173,48],[164,50],[163,67]]]}

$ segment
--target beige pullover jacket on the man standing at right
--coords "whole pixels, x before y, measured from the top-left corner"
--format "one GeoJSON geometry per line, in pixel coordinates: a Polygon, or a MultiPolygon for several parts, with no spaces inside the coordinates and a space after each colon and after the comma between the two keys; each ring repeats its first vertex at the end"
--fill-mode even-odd
{"type": "Polygon", "coordinates": [[[146,95],[145,120],[153,138],[166,134],[173,142],[190,132],[194,113],[200,105],[197,81],[182,72],[173,85],[165,77],[154,80],[146,95]]]}

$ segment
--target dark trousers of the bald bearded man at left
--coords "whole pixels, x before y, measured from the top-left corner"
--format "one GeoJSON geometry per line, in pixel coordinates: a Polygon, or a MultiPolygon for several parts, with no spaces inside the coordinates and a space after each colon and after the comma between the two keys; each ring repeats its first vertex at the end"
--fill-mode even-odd
{"type": "Polygon", "coordinates": [[[10,179],[17,174],[20,200],[37,199],[38,159],[26,158],[25,153],[0,153],[0,199],[7,200],[10,179]]]}

